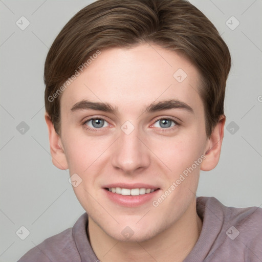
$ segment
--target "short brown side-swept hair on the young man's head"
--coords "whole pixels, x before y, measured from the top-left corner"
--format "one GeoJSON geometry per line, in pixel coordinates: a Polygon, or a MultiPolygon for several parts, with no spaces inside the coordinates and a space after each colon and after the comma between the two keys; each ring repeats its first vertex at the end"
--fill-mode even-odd
{"type": "Polygon", "coordinates": [[[98,0],[70,19],[54,40],[45,63],[46,112],[58,135],[61,95],[55,93],[62,84],[97,50],[142,43],[179,52],[199,70],[199,94],[210,137],[224,114],[231,57],[211,21],[184,0],[98,0]]]}

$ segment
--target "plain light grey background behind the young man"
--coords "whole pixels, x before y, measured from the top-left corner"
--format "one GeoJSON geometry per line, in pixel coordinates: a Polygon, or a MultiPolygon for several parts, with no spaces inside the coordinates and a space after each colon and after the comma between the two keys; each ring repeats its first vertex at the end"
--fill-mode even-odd
{"type": "MultiPolygon", "coordinates": [[[[43,64],[63,25],[91,2],[0,0],[2,262],[16,261],[47,237],[72,227],[84,212],[68,182],[69,172],[51,162],[43,117],[43,64]],[[21,16],[30,21],[25,30],[16,25],[21,16]],[[24,135],[16,129],[21,121],[30,127],[24,135]],[[21,226],[30,231],[24,241],[16,235],[21,226]]],[[[198,195],[214,196],[228,206],[260,206],[262,1],[190,2],[213,22],[231,51],[226,126],[232,121],[239,126],[234,134],[225,129],[220,163],[201,173],[198,195]],[[226,24],[231,16],[240,23],[234,30],[226,24]]],[[[227,23],[234,27],[237,21],[227,23]]]]}

